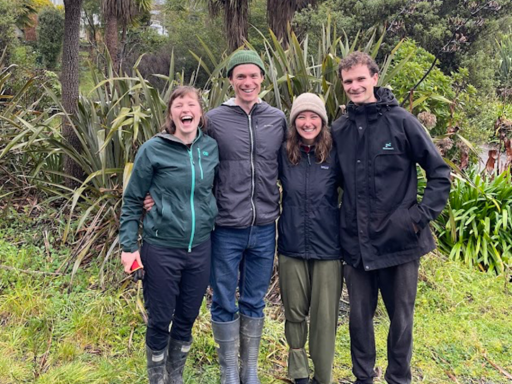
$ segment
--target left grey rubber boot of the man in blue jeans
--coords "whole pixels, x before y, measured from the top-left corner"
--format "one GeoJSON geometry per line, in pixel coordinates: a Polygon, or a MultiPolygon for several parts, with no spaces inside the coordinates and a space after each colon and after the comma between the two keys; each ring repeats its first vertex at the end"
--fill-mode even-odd
{"type": "Polygon", "coordinates": [[[217,323],[211,321],[215,342],[219,345],[217,354],[221,366],[221,384],[240,384],[238,371],[238,349],[240,317],[232,322],[217,323]]]}

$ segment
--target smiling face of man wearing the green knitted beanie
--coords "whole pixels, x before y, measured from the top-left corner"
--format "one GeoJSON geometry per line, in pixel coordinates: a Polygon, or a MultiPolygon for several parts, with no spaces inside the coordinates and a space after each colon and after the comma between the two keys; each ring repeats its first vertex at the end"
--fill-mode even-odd
{"type": "Polygon", "coordinates": [[[229,82],[234,90],[234,99],[247,113],[258,102],[262,81],[263,75],[257,65],[242,64],[233,68],[229,82]]]}

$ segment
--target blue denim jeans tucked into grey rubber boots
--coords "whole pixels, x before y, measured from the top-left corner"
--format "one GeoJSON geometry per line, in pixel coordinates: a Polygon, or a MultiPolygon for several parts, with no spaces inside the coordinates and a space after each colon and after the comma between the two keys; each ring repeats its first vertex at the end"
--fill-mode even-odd
{"type": "Polygon", "coordinates": [[[263,317],[263,298],[272,276],[274,254],[274,223],[249,228],[216,227],[211,232],[213,321],[231,322],[238,311],[249,317],[263,317]]]}

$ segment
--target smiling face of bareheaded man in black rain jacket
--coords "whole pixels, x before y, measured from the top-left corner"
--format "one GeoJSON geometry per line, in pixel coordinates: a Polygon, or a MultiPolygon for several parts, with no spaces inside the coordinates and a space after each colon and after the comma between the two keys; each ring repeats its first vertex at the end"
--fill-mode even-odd
{"type": "Polygon", "coordinates": [[[349,99],[356,105],[376,102],[373,88],[377,85],[378,74],[371,75],[370,69],[358,64],[348,70],[342,70],[343,88],[349,99]]]}

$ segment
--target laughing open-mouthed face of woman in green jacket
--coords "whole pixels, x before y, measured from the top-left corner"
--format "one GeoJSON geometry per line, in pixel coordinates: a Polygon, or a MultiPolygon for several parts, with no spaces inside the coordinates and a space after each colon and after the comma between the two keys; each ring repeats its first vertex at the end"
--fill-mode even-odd
{"type": "Polygon", "coordinates": [[[177,97],[170,104],[170,118],[176,127],[174,135],[185,144],[193,142],[196,138],[202,116],[201,105],[194,93],[177,97]]]}

